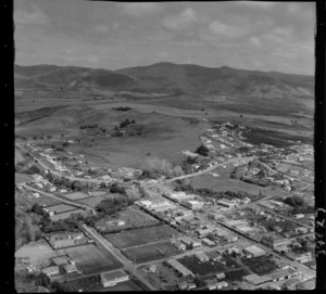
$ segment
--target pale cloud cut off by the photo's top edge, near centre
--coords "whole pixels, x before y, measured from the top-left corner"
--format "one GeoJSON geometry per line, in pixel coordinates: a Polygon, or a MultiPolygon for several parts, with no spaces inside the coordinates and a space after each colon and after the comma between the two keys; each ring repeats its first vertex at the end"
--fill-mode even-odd
{"type": "Polygon", "coordinates": [[[118,3],[123,13],[133,16],[141,17],[149,14],[155,14],[162,11],[162,5],[154,2],[139,2],[139,3],[118,3]]]}

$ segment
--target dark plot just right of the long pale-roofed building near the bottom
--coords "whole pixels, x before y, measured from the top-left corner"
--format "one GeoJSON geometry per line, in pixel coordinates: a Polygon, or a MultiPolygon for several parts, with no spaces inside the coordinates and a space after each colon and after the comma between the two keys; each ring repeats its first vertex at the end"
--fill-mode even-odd
{"type": "Polygon", "coordinates": [[[185,256],[181,259],[177,259],[180,264],[183,264],[186,268],[191,270],[195,274],[199,274],[202,277],[211,277],[213,274],[225,272],[227,269],[224,265],[218,261],[199,261],[195,256],[185,256]]]}

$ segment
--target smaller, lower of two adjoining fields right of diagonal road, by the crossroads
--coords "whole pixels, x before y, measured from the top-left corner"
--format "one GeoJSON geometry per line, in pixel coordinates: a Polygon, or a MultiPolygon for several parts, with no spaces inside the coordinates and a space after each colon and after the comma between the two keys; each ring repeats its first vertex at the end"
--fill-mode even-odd
{"type": "Polygon", "coordinates": [[[163,241],[155,244],[130,247],[122,251],[130,260],[136,264],[161,259],[180,254],[181,251],[173,247],[170,241],[163,241]]]}

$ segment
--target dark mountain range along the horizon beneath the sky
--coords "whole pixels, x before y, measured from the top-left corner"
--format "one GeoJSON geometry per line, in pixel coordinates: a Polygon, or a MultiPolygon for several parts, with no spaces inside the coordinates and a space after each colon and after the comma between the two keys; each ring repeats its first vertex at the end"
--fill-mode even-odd
{"type": "Polygon", "coordinates": [[[155,63],[117,71],[77,66],[14,66],[16,89],[62,87],[166,94],[226,94],[260,98],[313,98],[314,77],[204,67],[193,64],[155,63]]]}

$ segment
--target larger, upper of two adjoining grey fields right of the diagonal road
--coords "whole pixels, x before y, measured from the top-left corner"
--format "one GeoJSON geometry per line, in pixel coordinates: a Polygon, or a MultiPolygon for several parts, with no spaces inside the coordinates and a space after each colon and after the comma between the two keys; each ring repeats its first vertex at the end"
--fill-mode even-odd
{"type": "Polygon", "coordinates": [[[171,239],[177,231],[166,225],[136,229],[122,233],[104,234],[103,237],[118,248],[128,248],[171,239]]]}

